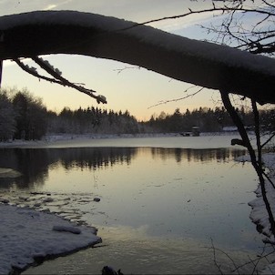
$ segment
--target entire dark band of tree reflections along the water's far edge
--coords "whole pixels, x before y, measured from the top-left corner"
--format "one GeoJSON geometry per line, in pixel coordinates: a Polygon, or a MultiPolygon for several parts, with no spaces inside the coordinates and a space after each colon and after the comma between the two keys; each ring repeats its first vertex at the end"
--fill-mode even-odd
{"type": "Polygon", "coordinates": [[[130,165],[138,153],[146,152],[152,158],[175,158],[177,163],[221,161],[226,162],[245,153],[245,150],[181,149],[181,148],[1,148],[0,168],[12,168],[23,176],[0,178],[0,188],[41,186],[48,177],[49,168],[61,165],[72,168],[96,170],[117,165],[130,165]]]}

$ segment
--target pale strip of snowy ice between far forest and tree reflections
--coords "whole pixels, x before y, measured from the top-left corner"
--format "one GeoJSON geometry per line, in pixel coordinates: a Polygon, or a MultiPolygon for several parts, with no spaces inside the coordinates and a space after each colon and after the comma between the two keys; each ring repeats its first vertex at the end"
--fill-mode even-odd
{"type": "MultiPolygon", "coordinates": [[[[140,135],[51,135],[43,140],[0,142],[0,148],[232,148],[236,132],[201,133],[199,137],[182,137],[178,133],[140,135]]],[[[250,136],[253,139],[253,136],[250,136]]],[[[255,140],[255,138],[253,139],[255,140]]],[[[245,148],[235,146],[234,148],[245,148]]]]}

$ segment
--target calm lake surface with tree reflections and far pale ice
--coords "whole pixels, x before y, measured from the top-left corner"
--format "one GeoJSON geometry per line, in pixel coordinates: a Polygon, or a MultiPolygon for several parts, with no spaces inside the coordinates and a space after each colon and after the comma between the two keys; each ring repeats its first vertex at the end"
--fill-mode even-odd
{"type": "MultiPolygon", "coordinates": [[[[262,242],[248,202],[258,181],[250,164],[234,161],[245,151],[228,148],[230,138],[73,140],[0,149],[0,167],[23,174],[0,178],[2,198],[95,226],[103,239],[102,247],[25,273],[98,273],[106,264],[127,274],[219,273],[211,241],[236,263],[256,258],[262,242]]],[[[217,251],[217,260],[226,273],[234,268],[224,253],[217,251]]]]}

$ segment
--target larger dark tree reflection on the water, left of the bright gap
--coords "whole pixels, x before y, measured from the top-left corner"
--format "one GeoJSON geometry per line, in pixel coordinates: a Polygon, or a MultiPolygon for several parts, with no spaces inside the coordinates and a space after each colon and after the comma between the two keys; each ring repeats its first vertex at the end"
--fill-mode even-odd
{"type": "Polygon", "coordinates": [[[0,188],[34,188],[45,183],[48,169],[61,164],[71,168],[104,168],[130,164],[137,148],[4,148],[0,149],[0,167],[13,168],[19,178],[0,178],[0,188]]]}

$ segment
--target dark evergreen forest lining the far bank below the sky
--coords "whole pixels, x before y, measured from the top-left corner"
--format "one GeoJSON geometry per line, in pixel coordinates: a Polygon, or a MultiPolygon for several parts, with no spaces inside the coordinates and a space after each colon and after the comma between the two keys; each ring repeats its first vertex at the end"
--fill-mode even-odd
{"type": "MultiPolygon", "coordinates": [[[[246,127],[252,127],[253,113],[241,106],[236,109],[246,127]]],[[[275,130],[275,109],[260,110],[263,130],[275,130]]],[[[148,121],[138,121],[124,112],[98,107],[64,107],[60,113],[47,110],[40,98],[26,89],[0,90],[0,141],[10,139],[35,140],[46,134],[140,134],[185,133],[192,127],[201,132],[218,132],[234,123],[224,107],[199,107],[173,114],[161,112],[148,121]]]]}

